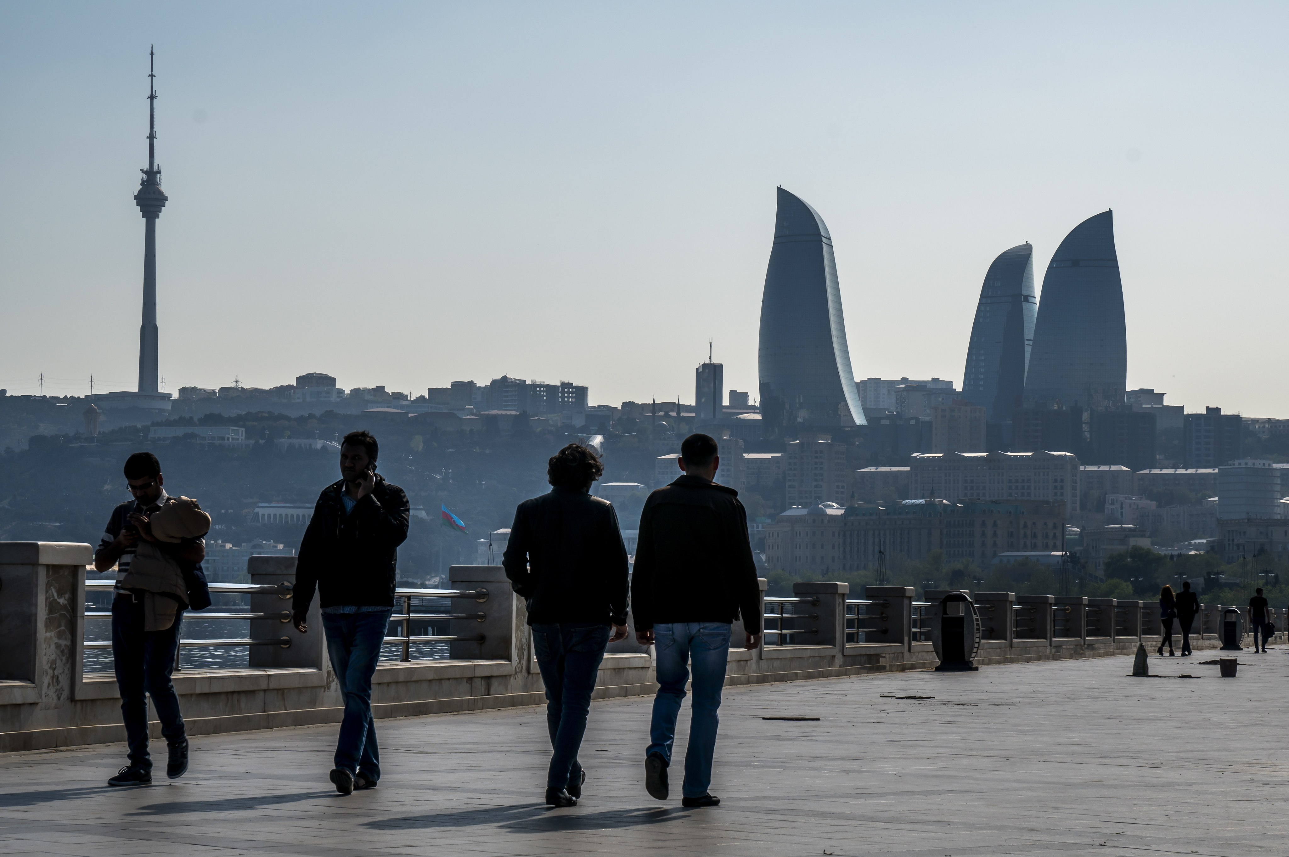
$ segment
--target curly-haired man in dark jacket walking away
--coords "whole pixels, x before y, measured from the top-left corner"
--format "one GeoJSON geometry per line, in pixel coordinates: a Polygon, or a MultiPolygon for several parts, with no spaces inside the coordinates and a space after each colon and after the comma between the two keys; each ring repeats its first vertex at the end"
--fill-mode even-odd
{"type": "Polygon", "coordinates": [[[614,506],[589,494],[603,472],[596,454],[577,443],[550,456],[550,492],[514,510],[501,559],[510,586],[527,601],[547,689],[552,807],[575,807],[581,796],[586,772],[577,750],[599,662],[608,643],[626,638],[626,548],[614,506]]]}

